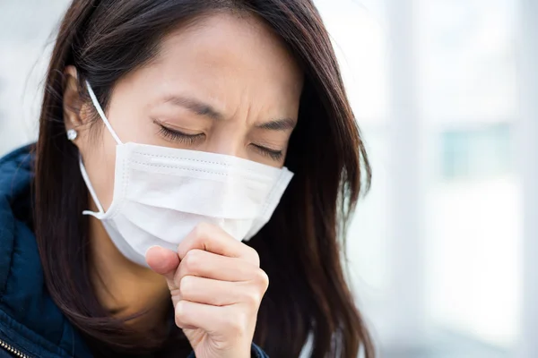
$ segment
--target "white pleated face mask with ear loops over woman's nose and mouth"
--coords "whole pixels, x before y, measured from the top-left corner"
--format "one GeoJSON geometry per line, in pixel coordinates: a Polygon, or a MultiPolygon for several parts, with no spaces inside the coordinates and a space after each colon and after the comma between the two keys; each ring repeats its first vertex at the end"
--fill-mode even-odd
{"type": "Polygon", "coordinates": [[[101,220],[127,259],[147,266],[147,249],[160,245],[176,251],[200,222],[249,240],[269,221],[293,176],[288,169],[197,150],[122,143],[86,86],[117,147],[114,194],[106,212],[81,161],[82,177],[99,209],[83,214],[101,220]]]}

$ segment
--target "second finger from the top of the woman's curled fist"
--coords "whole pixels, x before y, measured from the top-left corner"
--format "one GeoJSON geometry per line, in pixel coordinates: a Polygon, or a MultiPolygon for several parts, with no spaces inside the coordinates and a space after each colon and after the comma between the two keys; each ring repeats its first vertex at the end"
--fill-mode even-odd
{"type": "Polygon", "coordinates": [[[230,282],[248,281],[255,278],[257,270],[257,266],[246,260],[195,249],[188,251],[179,263],[174,282],[179,285],[181,278],[187,275],[230,282]]]}

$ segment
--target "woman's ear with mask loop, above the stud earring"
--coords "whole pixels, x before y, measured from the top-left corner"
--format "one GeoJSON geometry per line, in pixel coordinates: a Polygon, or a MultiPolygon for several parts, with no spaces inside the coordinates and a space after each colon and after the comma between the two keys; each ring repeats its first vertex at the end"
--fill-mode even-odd
{"type": "MultiPolygon", "coordinates": [[[[86,115],[82,111],[83,102],[78,88],[78,74],[76,68],[72,65],[65,67],[64,70],[63,97],[65,132],[70,129],[78,132],[86,122],[86,115]]],[[[76,140],[74,142],[76,145],[76,140]]]]}

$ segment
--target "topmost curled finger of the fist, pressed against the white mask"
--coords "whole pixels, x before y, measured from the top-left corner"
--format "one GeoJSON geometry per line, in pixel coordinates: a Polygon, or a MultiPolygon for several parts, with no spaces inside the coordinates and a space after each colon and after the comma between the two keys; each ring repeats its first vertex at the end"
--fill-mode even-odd
{"type": "Polygon", "coordinates": [[[222,256],[240,258],[254,265],[260,265],[256,250],[234,239],[221,227],[201,223],[187,234],[185,240],[178,245],[178,255],[183,259],[188,251],[199,249],[210,251],[222,256]]]}

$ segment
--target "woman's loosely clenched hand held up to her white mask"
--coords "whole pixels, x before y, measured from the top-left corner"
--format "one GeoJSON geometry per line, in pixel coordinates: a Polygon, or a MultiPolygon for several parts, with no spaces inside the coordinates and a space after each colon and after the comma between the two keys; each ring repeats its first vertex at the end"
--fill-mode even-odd
{"type": "Polygon", "coordinates": [[[257,252],[220,227],[201,224],[178,252],[152,247],[146,261],[166,277],[176,324],[197,358],[250,357],[269,279],[257,252]]]}

